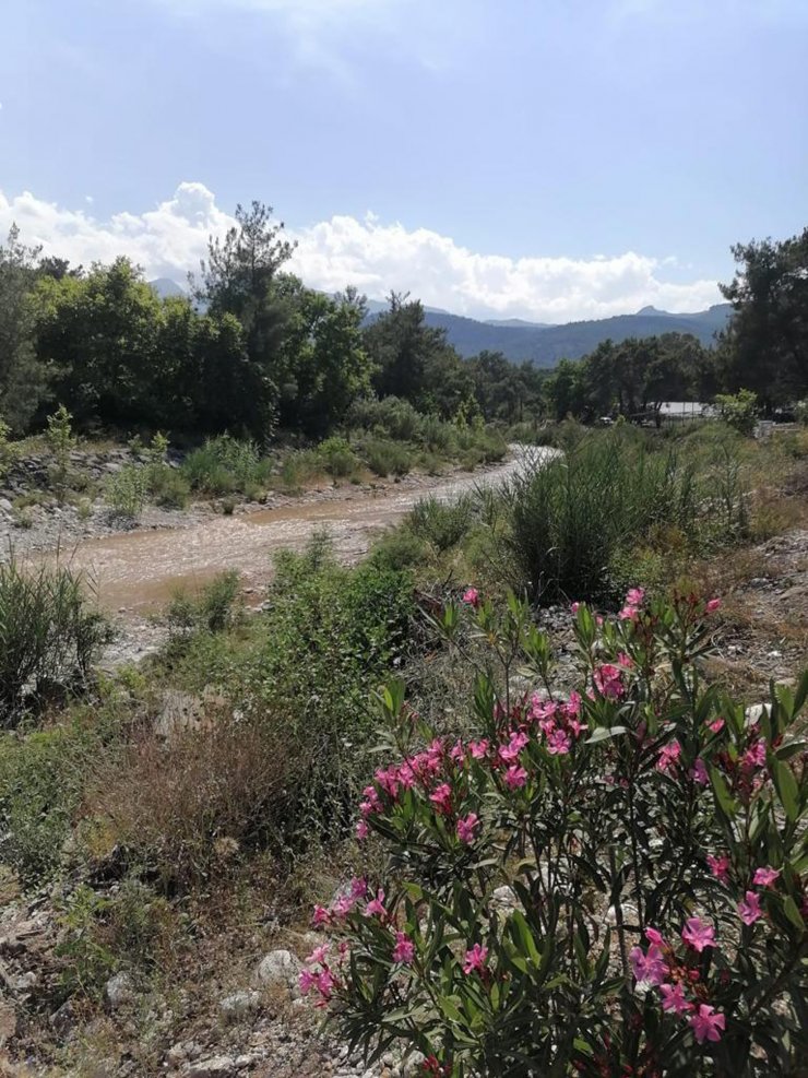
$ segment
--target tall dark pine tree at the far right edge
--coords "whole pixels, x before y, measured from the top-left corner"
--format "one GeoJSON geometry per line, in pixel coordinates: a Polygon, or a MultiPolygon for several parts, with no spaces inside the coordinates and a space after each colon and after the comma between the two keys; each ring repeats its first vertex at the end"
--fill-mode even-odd
{"type": "Polygon", "coordinates": [[[733,281],[721,291],[734,308],[722,341],[726,387],[752,390],[764,408],[808,388],[808,228],[799,236],[737,244],[733,281]]]}

